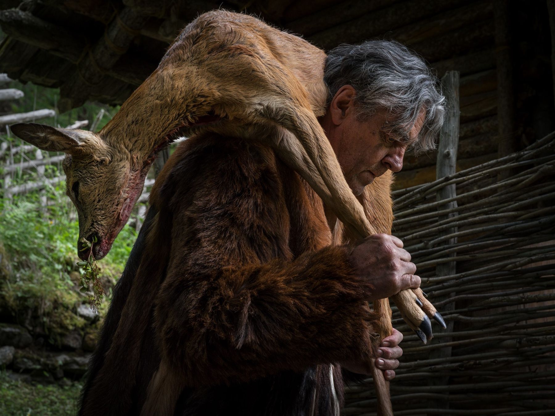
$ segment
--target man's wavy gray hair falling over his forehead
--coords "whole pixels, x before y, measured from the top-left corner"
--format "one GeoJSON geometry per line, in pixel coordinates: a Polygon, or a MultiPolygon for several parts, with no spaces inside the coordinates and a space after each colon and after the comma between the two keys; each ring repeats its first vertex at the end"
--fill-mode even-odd
{"type": "Polygon", "coordinates": [[[421,109],[425,121],[415,143],[416,151],[435,148],[445,118],[446,102],[437,77],[424,60],[395,40],[369,40],[360,45],[342,44],[326,58],[324,81],[329,90],[327,104],[343,85],[355,91],[357,119],[367,120],[385,108],[392,117],[393,136],[408,143],[408,132],[421,109]]]}

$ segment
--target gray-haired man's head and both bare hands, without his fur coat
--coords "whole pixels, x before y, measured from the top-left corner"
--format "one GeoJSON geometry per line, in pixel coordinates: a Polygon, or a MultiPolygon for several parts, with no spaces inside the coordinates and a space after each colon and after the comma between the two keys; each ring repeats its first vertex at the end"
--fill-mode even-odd
{"type": "MultiPolygon", "coordinates": [[[[407,148],[435,148],[445,97],[425,62],[405,46],[387,40],[340,45],[327,55],[324,80],[329,89],[328,109],[319,121],[356,196],[388,170],[400,171],[407,148]]],[[[335,215],[326,210],[326,219],[333,229],[335,215]]],[[[376,299],[420,286],[410,254],[396,237],[367,237],[352,252],[351,262],[360,275],[372,281],[376,299]],[[390,265],[381,259],[390,251],[396,253],[395,261],[402,265],[403,273],[388,273],[390,265]],[[369,260],[372,256],[374,261],[369,260]]],[[[401,340],[402,334],[394,330],[378,350],[381,358],[376,366],[388,380],[395,377],[401,340]]],[[[371,373],[364,363],[342,365],[354,373],[371,373]]]]}

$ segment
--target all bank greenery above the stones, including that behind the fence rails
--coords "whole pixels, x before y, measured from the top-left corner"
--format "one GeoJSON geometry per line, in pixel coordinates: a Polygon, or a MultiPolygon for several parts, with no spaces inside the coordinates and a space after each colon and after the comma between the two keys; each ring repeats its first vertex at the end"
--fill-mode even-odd
{"type": "MultiPolygon", "coordinates": [[[[25,97],[11,102],[0,112],[56,109],[58,89],[19,82],[11,82],[2,88],[21,89],[25,97]]],[[[88,119],[90,126],[101,109],[105,115],[97,126],[99,129],[118,108],[87,103],[54,118],[37,121],[65,127],[75,120],[88,119]]],[[[0,134],[0,142],[7,141],[13,148],[24,144],[6,131],[3,133],[0,134]]],[[[8,161],[17,164],[28,159],[33,159],[32,153],[25,156],[18,153],[11,160],[5,154],[0,159],[0,188],[5,179],[2,175],[3,164],[8,161]]],[[[45,168],[46,177],[63,175],[60,164],[46,165],[45,168]]],[[[36,171],[17,170],[9,179],[10,186],[14,186],[37,181],[39,177],[36,171]]],[[[14,195],[12,199],[0,199],[0,258],[3,258],[0,261],[0,310],[7,309],[19,323],[42,328],[53,344],[59,344],[63,334],[85,325],[84,319],[74,313],[79,303],[88,302],[88,296],[79,292],[83,268],[77,265],[78,230],[76,211],[65,196],[64,182],[42,191],[14,195]],[[41,204],[41,199],[44,201],[45,198],[47,206],[41,204]]],[[[108,256],[99,262],[102,268],[99,278],[108,294],[123,271],[136,237],[134,229],[124,227],[108,256]]],[[[99,308],[101,316],[107,303],[105,300],[99,308]]]]}

